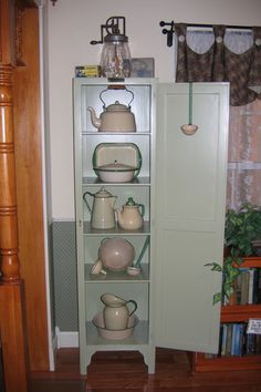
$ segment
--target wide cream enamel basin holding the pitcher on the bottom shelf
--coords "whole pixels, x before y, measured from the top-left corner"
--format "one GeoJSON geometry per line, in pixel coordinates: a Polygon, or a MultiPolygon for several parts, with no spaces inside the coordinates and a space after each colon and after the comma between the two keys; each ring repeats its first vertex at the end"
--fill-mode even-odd
{"type": "Polygon", "coordinates": [[[123,339],[130,337],[130,334],[133,333],[134,328],[137,326],[138,321],[139,321],[138,317],[136,314],[132,314],[129,317],[128,327],[126,329],[123,329],[119,331],[112,331],[112,330],[105,328],[104,319],[103,319],[103,311],[101,311],[100,313],[97,313],[93,318],[93,323],[97,328],[100,336],[104,339],[107,339],[107,340],[123,340],[123,339]]]}

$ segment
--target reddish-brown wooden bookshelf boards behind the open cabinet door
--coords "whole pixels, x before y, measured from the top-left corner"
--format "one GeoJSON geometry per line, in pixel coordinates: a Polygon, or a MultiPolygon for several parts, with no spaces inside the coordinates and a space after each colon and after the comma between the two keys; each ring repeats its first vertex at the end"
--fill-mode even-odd
{"type": "MultiPolygon", "coordinates": [[[[247,257],[241,268],[261,268],[261,257],[247,257]]],[[[221,307],[222,324],[248,323],[249,319],[261,319],[261,303],[226,305],[221,307]]],[[[258,354],[229,354],[208,355],[206,353],[192,353],[192,371],[230,371],[230,370],[257,370],[261,369],[261,353],[258,354]]]]}

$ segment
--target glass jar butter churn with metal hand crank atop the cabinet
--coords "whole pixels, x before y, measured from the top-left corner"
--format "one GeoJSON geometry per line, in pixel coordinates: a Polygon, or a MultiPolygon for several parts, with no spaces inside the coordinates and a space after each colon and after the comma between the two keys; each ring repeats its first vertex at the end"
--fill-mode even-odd
{"type": "Polygon", "coordinates": [[[102,76],[108,79],[124,79],[130,76],[132,58],[128,48],[128,38],[125,34],[125,18],[111,17],[101,25],[101,41],[91,41],[91,44],[103,43],[101,56],[102,76]],[[106,35],[103,37],[104,30],[106,35]]]}

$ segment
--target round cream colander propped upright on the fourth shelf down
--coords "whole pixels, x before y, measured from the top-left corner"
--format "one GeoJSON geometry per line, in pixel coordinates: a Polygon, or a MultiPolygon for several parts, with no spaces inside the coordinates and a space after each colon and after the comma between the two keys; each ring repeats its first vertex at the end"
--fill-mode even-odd
{"type": "Polygon", "coordinates": [[[124,238],[105,238],[98,248],[98,259],[103,267],[113,271],[124,271],[133,265],[135,249],[124,238]]]}

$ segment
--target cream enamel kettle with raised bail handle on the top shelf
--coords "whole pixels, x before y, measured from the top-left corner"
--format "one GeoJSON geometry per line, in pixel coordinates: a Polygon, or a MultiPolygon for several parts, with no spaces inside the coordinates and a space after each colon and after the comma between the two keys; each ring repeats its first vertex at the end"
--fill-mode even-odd
{"type": "Polygon", "coordinates": [[[111,90],[116,87],[117,90],[124,89],[132,94],[132,100],[128,103],[128,106],[121,104],[118,101],[115,101],[113,104],[106,106],[105,102],[102,100],[102,94],[108,89],[103,90],[100,94],[100,99],[103,102],[103,112],[100,117],[97,117],[95,110],[92,106],[87,107],[91,112],[92,124],[98,128],[98,131],[103,132],[135,132],[135,116],[130,111],[130,103],[133,102],[134,94],[125,86],[111,86],[111,90]]]}

